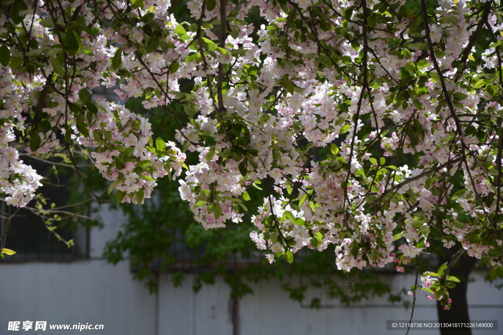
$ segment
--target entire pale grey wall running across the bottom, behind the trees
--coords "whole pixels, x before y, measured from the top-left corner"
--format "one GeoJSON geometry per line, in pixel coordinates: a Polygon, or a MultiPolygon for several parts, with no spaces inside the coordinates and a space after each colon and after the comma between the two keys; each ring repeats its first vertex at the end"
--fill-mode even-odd
{"type": "MultiPolygon", "coordinates": [[[[278,282],[251,285],[253,295],[238,303],[238,317],[231,320],[229,288],[221,278],[195,294],[194,275],[174,288],[169,276],[159,278],[158,294],[150,295],[143,283],[133,281],[128,262],[110,265],[101,259],[107,240],[113,238],[124,218],[104,212],[105,229],[91,232],[91,259],[69,263],[0,263],[0,334],[9,321],[47,321],[48,324],[103,324],[104,330],[79,333],[107,335],[269,335],[269,334],[389,334],[386,320],[408,320],[410,309],[373,298],[346,307],[323,299],[323,308],[312,310],[289,299],[278,282]]],[[[410,288],[412,275],[382,277],[395,291],[410,288]]],[[[498,320],[503,333],[503,290],[484,282],[475,273],[468,286],[471,320],[498,320]]],[[[320,296],[322,292],[307,292],[320,296]]],[[[411,297],[410,297],[411,298],[411,297]]],[[[455,303],[455,301],[453,302],[455,303]]],[[[418,295],[414,320],[437,320],[435,302],[418,295]]],[[[23,331],[23,330],[21,330],[23,331]]],[[[31,329],[30,331],[34,331],[31,329]]],[[[76,330],[50,330],[45,334],[70,334],[76,330]]],[[[423,333],[415,331],[413,333],[423,333]]],[[[436,335],[439,331],[428,331],[436,335]]]]}

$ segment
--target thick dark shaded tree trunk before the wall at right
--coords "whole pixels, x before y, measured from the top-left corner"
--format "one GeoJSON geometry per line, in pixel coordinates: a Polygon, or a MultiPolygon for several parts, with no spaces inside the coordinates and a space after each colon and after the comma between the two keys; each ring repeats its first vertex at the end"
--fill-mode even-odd
{"type": "MultiPolygon", "coordinates": [[[[452,248],[454,249],[454,248],[452,248]]],[[[455,251],[455,250],[454,250],[455,251]]],[[[445,262],[452,259],[452,255],[448,255],[449,259],[442,260],[445,262]],[[451,256],[451,257],[449,257],[451,256]]],[[[456,266],[449,273],[450,276],[457,277],[461,283],[456,283],[456,287],[449,289],[449,297],[452,300],[451,309],[446,310],[437,302],[437,311],[439,322],[462,321],[469,322],[468,301],[466,300],[466,289],[468,287],[468,276],[470,275],[473,265],[477,259],[470,257],[464,253],[458,260],[456,266]]],[[[471,335],[470,328],[441,328],[441,335],[471,335]]]]}

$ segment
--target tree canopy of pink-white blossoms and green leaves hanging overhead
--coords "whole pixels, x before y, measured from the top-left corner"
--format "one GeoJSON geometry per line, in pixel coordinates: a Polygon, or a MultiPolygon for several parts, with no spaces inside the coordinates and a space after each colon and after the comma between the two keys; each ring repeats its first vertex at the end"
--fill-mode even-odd
{"type": "Polygon", "coordinates": [[[9,209],[40,186],[18,148],[66,150],[79,176],[75,148],[89,148],[109,193],[135,204],[185,167],[180,194],[206,229],[238,224],[247,190],[267,190],[250,237],[270,262],[334,244],[340,270],[396,263],[403,272],[433,240],[461,242],[411,290],[448,309],[459,281],[448,274],[463,252],[503,277],[503,26],[490,0],[405,5],[199,0],[189,2],[191,23],[177,22],[166,0],[3,2],[9,209]],[[268,26],[245,20],[254,7],[268,26]],[[492,42],[476,51],[482,35],[492,42]],[[192,92],[180,90],[182,78],[192,92]],[[120,99],[141,97],[145,108],[183,106],[182,150],[154,141],[134,111],[91,99],[91,89],[117,84],[120,99]],[[187,167],[186,150],[200,163],[187,167]]]}

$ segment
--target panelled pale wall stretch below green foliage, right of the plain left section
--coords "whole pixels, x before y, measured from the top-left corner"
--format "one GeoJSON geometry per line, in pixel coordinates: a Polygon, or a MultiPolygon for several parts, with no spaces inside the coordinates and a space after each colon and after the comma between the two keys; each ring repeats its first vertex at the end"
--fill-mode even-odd
{"type": "MultiPolygon", "coordinates": [[[[410,287],[414,276],[388,275],[382,279],[399,291],[402,287],[410,287]]],[[[214,287],[203,287],[194,294],[191,292],[193,280],[193,276],[186,276],[181,288],[174,288],[167,277],[161,280],[160,334],[232,334],[232,328],[228,326],[228,287],[219,279],[214,287]],[[183,315],[186,317],[183,318],[183,315]],[[221,324],[220,327],[217,324],[221,324]]],[[[503,291],[485,283],[482,274],[475,273],[472,280],[474,282],[468,286],[471,319],[498,320],[500,323],[497,331],[474,330],[473,335],[503,333],[503,291]]],[[[401,304],[392,305],[386,297],[372,298],[363,301],[360,306],[350,307],[336,299],[322,299],[322,305],[326,307],[314,310],[290,300],[278,282],[263,281],[251,287],[254,294],[244,297],[239,303],[241,335],[398,334],[401,332],[386,330],[386,320],[410,318],[410,308],[405,309],[401,304]]],[[[319,296],[319,293],[307,292],[306,300],[310,301],[309,296],[319,296]]],[[[413,320],[438,320],[435,302],[417,295],[413,320]]],[[[439,333],[428,331],[431,335],[439,333]]]]}

